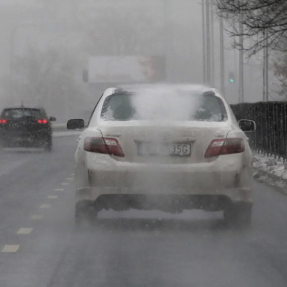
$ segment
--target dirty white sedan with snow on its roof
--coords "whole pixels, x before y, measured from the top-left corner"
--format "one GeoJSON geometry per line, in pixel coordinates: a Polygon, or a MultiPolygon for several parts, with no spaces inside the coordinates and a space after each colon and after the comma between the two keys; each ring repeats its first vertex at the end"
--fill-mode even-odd
{"type": "MultiPolygon", "coordinates": [[[[83,130],[76,160],[76,222],[102,209],[224,211],[251,222],[252,153],[225,98],[201,86],[107,89],[83,130]]],[[[244,130],[244,131],[243,131],[244,130]]]]}

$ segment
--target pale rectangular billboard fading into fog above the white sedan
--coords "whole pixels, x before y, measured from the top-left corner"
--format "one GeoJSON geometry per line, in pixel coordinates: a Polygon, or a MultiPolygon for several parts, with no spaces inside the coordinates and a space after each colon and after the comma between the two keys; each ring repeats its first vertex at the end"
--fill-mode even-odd
{"type": "Polygon", "coordinates": [[[90,83],[153,83],[165,81],[165,57],[95,56],[89,58],[90,83]]]}

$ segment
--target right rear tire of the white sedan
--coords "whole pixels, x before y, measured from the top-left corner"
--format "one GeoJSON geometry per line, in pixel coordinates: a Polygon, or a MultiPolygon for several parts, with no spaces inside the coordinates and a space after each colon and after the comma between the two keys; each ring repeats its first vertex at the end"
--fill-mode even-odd
{"type": "Polygon", "coordinates": [[[223,215],[229,225],[248,227],[252,220],[252,205],[249,203],[232,204],[224,209],[223,215]]]}

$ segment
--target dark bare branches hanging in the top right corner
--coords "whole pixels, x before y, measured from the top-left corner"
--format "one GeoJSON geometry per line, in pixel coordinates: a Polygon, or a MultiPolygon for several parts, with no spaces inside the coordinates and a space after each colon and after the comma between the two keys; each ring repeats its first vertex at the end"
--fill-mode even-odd
{"type": "Polygon", "coordinates": [[[234,46],[255,54],[268,46],[271,49],[287,51],[281,45],[287,39],[287,1],[286,0],[214,0],[219,15],[229,21],[233,29],[234,46]],[[243,24],[240,32],[239,24],[243,24]],[[236,36],[249,38],[247,45],[241,46],[236,36]]]}

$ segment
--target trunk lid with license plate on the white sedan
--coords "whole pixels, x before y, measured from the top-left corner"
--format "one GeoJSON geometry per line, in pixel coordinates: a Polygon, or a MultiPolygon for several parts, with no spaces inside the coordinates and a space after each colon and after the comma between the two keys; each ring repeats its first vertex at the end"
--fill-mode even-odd
{"type": "Polygon", "coordinates": [[[227,122],[102,121],[97,129],[104,138],[116,138],[124,157],[134,163],[191,164],[205,162],[213,139],[224,139],[232,129],[227,122]]]}

